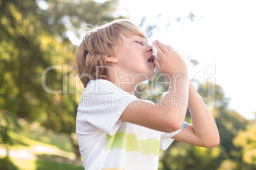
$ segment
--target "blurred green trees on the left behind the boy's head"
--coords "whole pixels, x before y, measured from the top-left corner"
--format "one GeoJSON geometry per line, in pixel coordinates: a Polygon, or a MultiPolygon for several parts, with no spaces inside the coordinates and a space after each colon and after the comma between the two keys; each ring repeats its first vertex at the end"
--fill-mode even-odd
{"type": "MultiPolygon", "coordinates": [[[[71,135],[77,108],[73,93],[76,47],[69,34],[79,37],[80,29],[90,24],[122,18],[113,14],[117,3],[0,1],[0,115],[10,112],[13,119],[39,121],[48,129],[69,134],[77,149],[71,135]],[[48,93],[45,87],[61,92],[48,93]]],[[[5,130],[2,138],[4,134],[5,130]]]]}

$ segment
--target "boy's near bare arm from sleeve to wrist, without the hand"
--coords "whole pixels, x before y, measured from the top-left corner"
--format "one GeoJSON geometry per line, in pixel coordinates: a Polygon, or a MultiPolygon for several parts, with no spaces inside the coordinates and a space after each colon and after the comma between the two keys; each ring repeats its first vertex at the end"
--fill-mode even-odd
{"type": "Polygon", "coordinates": [[[180,77],[177,80],[176,93],[173,93],[173,84],[168,90],[169,94],[165,95],[159,103],[149,103],[143,100],[132,101],[120,117],[121,121],[138,124],[146,128],[158,131],[172,132],[183,126],[187,111],[188,88],[185,84],[188,78],[180,77]],[[172,98],[182,101],[181,107],[169,106],[172,98]]]}

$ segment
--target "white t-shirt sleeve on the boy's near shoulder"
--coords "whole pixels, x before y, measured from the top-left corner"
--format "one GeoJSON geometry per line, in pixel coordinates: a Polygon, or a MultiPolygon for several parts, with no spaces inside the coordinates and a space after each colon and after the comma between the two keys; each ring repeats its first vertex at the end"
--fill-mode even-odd
{"type": "Polygon", "coordinates": [[[82,114],[79,121],[90,126],[92,131],[101,130],[113,136],[122,124],[119,118],[125,108],[138,98],[108,81],[96,81],[90,86],[96,89],[88,89],[82,94],[78,107],[78,113],[82,114]]]}

